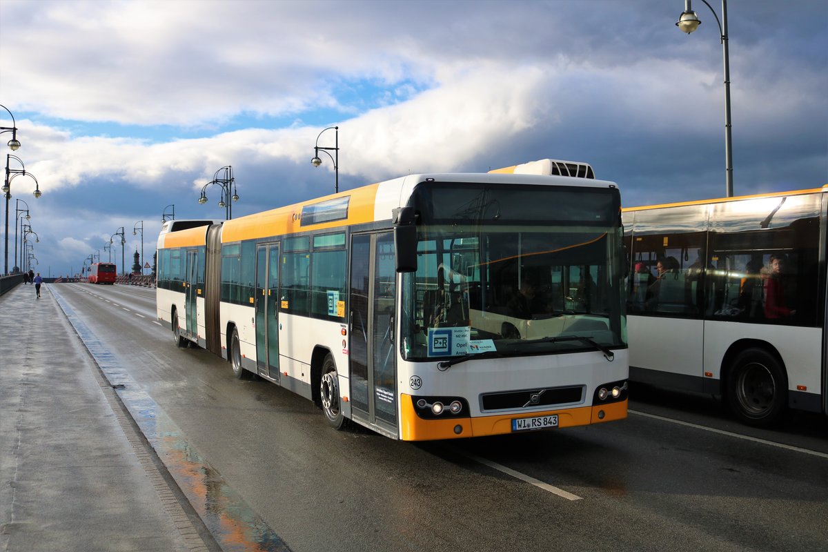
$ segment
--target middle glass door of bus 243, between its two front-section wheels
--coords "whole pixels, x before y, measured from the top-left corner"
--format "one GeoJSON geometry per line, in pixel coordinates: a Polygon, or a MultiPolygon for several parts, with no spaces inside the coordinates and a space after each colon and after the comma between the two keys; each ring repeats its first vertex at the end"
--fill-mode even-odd
{"type": "Polygon", "coordinates": [[[279,381],[279,244],[256,248],[256,366],[258,373],[279,381]]]}

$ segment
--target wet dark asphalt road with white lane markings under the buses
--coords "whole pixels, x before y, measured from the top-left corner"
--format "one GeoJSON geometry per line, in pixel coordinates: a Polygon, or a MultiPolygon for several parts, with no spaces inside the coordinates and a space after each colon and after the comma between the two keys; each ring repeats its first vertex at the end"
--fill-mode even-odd
{"type": "Polygon", "coordinates": [[[310,401],[176,348],[154,290],[55,288],[157,405],[158,434],[204,462],[174,473],[196,510],[235,497],[295,552],[826,550],[825,416],[756,430],[708,397],[633,386],[621,422],[400,443],[331,430],[310,401]]]}

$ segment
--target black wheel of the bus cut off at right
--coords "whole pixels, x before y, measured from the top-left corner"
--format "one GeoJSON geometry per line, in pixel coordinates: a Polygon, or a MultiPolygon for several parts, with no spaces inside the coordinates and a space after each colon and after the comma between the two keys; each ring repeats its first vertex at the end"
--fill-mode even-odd
{"type": "Polygon", "coordinates": [[[727,375],[727,401],[747,425],[767,426],[787,406],[787,375],[781,362],[761,348],[739,353],[727,375]]]}

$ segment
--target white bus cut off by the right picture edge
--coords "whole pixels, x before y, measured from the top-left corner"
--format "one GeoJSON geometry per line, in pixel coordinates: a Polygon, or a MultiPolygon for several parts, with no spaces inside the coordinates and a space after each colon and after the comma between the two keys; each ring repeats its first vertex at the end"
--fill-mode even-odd
{"type": "Polygon", "coordinates": [[[828,412],[826,205],[828,185],[623,209],[630,379],[749,425],[828,412]]]}

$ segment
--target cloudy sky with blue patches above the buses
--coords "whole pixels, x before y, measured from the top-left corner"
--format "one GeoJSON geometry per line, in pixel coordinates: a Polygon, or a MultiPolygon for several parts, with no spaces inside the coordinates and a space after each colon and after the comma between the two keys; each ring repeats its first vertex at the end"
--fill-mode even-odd
{"type": "MultiPolygon", "coordinates": [[[[152,262],[169,204],[223,218],[217,186],[198,203],[222,166],[233,216],[331,193],[310,157],[333,125],[340,190],[551,157],[625,205],[720,197],[722,46],[693,8],[688,36],[681,0],[2,0],[0,104],[43,193],[12,181],[9,267],[17,199],[58,276],[108,260],[120,227],[130,257],[139,221],[152,262]]],[[[828,2],[731,0],[728,18],[735,193],[828,183],[828,2]]]]}

